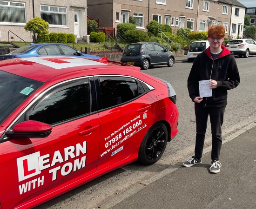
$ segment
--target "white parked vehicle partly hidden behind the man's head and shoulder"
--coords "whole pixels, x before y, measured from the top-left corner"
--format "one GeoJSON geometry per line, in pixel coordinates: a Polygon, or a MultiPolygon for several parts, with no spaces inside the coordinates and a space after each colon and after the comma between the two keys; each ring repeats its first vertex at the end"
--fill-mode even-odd
{"type": "Polygon", "coordinates": [[[202,53],[205,49],[207,49],[210,46],[208,40],[202,40],[202,41],[194,41],[189,46],[189,52],[187,54],[187,59],[189,62],[192,62],[195,60],[196,56],[200,53],[202,53]]]}

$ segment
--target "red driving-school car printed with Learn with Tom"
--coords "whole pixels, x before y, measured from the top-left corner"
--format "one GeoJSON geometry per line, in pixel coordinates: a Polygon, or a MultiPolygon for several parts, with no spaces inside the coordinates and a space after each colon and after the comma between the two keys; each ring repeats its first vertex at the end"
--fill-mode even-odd
{"type": "Polygon", "coordinates": [[[0,62],[0,209],[27,209],[139,160],[178,132],[172,86],[139,67],[71,57],[0,62]]]}

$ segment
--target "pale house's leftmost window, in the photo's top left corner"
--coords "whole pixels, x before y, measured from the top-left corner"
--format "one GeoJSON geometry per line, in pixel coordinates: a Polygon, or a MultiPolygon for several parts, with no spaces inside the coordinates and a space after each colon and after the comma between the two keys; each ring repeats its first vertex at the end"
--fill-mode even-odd
{"type": "Polygon", "coordinates": [[[0,1],[0,23],[11,23],[11,25],[26,24],[25,3],[0,1]]]}

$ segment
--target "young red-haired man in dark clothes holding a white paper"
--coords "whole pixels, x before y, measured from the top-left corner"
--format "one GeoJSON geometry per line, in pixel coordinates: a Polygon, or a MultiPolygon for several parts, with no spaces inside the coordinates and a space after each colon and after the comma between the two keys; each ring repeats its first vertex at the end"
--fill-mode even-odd
{"type": "Polygon", "coordinates": [[[191,167],[201,163],[208,116],[212,133],[211,173],[220,172],[219,162],[222,146],[222,123],[227,105],[228,90],[239,85],[240,78],[233,52],[222,45],[225,35],[223,26],[211,26],[208,30],[210,46],[197,55],[188,78],[189,97],[195,103],[195,155],[183,166],[191,167]],[[200,96],[199,81],[209,85],[207,96],[200,96]],[[210,96],[210,93],[212,96],[210,96]]]}

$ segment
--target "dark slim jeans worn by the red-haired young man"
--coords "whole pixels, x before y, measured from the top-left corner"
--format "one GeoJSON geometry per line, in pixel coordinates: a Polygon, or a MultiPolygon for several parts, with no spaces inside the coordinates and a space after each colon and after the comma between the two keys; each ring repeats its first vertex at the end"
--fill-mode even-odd
{"type": "Polygon", "coordinates": [[[202,157],[202,150],[207,128],[208,115],[211,122],[212,133],[212,160],[219,160],[222,147],[222,124],[225,112],[224,107],[204,107],[195,102],[195,122],[196,122],[196,137],[195,137],[195,157],[202,157]]]}

